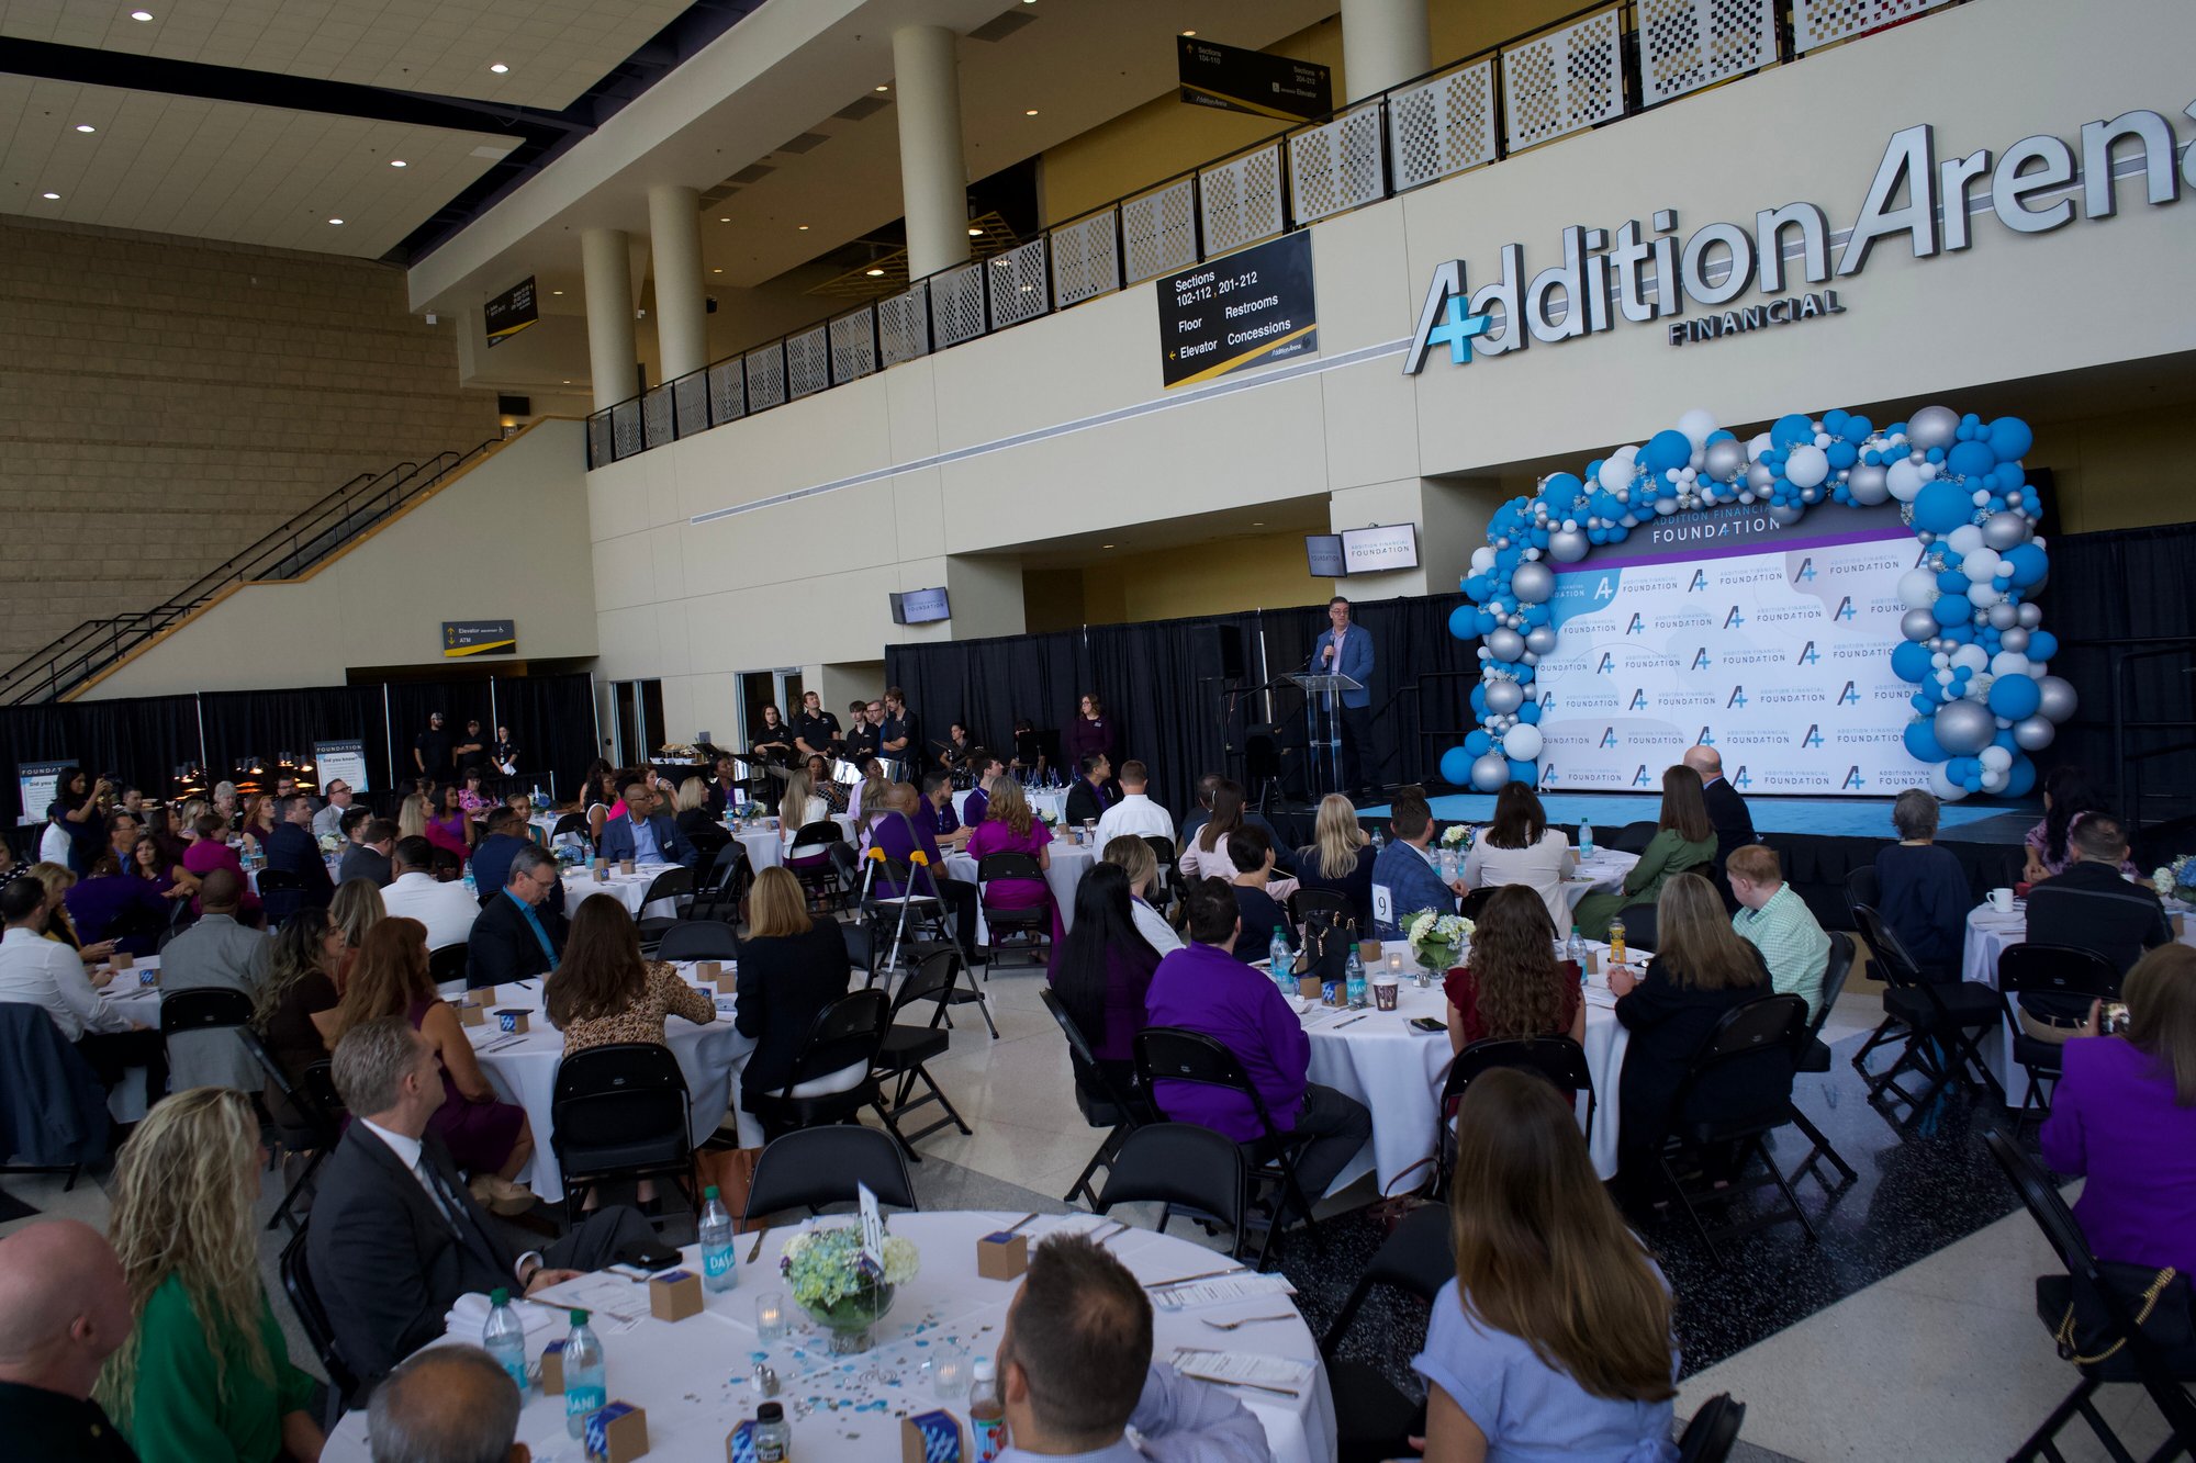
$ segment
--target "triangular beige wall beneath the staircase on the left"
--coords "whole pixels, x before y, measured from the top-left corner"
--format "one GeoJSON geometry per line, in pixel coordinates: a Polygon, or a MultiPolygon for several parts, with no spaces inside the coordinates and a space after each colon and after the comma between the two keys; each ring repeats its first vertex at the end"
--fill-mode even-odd
{"type": "Polygon", "coordinates": [[[86,699],[343,685],[351,666],[439,666],[446,619],[514,619],[529,661],[595,655],[582,450],[578,422],[529,426],[310,578],[211,604],[86,699]]]}

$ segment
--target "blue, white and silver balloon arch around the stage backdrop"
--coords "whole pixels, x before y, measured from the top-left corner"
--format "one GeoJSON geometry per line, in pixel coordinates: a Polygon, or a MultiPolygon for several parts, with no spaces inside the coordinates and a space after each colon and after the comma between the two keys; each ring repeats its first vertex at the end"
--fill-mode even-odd
{"type": "Polygon", "coordinates": [[[1882,431],[1849,411],[1792,413],[1739,442],[1695,409],[1645,446],[1586,464],[1583,481],[1546,477],[1535,496],[1498,507],[1487,547],[1471,551],[1471,604],[1456,608],[1449,633],[1480,641],[1480,725],[1443,753],[1441,775],[1482,793],[1537,782],[1539,705],[1524,688],[1557,646],[1550,565],[1575,565],[1678,512],[1766,503],[1779,523],[1799,523],[1825,499],[1895,499],[1926,547],[1900,580],[1904,641],[1891,652],[1891,670],[1915,688],[1906,751],[1930,764],[1930,791],[1946,802],[2025,795],[2036,786],[2027,753],[2049,747],[2075,707],[2073,688],[2049,674],[2058,637],[2033,604],[2049,560],[2036,536],[2042,503],[2020,468],[2031,442],[2020,417],[1983,422],[1950,406],[1882,431]]]}

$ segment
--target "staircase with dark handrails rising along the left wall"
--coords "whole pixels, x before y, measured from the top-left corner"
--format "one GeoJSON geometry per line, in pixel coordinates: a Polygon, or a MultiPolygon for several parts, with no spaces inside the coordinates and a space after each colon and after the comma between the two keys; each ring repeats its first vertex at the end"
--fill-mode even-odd
{"type": "Polygon", "coordinates": [[[400,461],[382,472],[360,472],[253,547],[200,576],[165,604],[112,619],[86,619],[53,644],[33,650],[0,672],[0,705],[68,701],[86,681],[169,626],[180,624],[222,591],[255,580],[303,576],[498,444],[501,437],[490,437],[463,453],[446,450],[426,461],[400,461]]]}

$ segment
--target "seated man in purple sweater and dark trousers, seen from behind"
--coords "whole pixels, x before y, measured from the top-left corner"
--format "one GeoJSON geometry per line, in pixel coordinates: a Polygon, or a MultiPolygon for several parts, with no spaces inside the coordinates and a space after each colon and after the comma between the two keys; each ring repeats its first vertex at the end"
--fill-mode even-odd
{"type": "MultiPolygon", "coordinates": [[[[1313,1133],[1296,1160],[1304,1197],[1318,1202],[1342,1166],[1372,1136],[1364,1103],[1307,1081],[1311,1039],[1280,989],[1234,958],[1243,929],[1234,890],[1219,879],[1188,887],[1190,945],[1159,960],[1144,993],[1149,1026],[1184,1026],[1234,1052],[1280,1131],[1313,1133]]],[[[1236,1142],[1263,1138],[1250,1098],[1223,1087],[1159,1083],[1159,1112],[1175,1123],[1197,1123],[1236,1142]]],[[[1291,1221],[1296,1215],[1282,1215],[1291,1221]]]]}

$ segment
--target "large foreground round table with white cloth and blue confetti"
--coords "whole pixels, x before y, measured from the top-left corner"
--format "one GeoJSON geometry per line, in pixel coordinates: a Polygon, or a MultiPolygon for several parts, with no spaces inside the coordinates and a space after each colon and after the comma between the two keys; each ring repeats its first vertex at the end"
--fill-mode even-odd
{"type": "MultiPolygon", "coordinates": [[[[632,1401],[648,1412],[650,1463],[722,1463],[725,1434],[755,1415],[762,1401],[753,1386],[755,1355],[762,1353],[777,1373],[777,1401],[793,1423],[791,1456],[802,1463],[883,1463],[900,1456],[900,1417],[949,1408],[962,1423],[968,1417],[968,1391],[962,1382],[953,1395],[931,1391],[925,1360],[933,1355],[993,1355],[1006,1327],[1006,1307],[1019,1281],[986,1281],[975,1272],[975,1241],[1001,1230],[1021,1215],[1015,1213],[933,1213],[892,1215],[892,1235],[916,1241],[922,1250],[922,1272],[900,1287],[892,1314],[876,1325],[876,1347],[863,1355],[834,1358],[821,1344],[821,1331],[786,1298],[793,1327],[784,1340],[764,1347],[755,1333],[755,1298],[784,1294],[777,1257],[795,1226],[766,1230],[762,1254],[749,1263],[755,1237],[738,1237],[740,1283],[731,1292],[703,1294],[703,1311],[679,1322],[648,1316],[646,1298],[639,1320],[626,1329],[617,1320],[597,1318],[595,1333],[608,1373],[610,1399],[632,1401]]],[[[824,1219],[826,1226],[852,1224],[852,1215],[824,1219]]],[[[813,1221],[810,1221],[813,1224],[813,1221]]],[[[1032,1239],[1054,1230],[1100,1230],[1105,1246],[1144,1283],[1208,1274],[1228,1257],[1149,1230],[1120,1230],[1091,1215],[1047,1215],[1023,1224],[1032,1239]]],[[[698,1272],[698,1250],[683,1250],[687,1270],[698,1272]]],[[[597,1276],[600,1281],[600,1276],[597,1276]]],[[[639,1287],[632,1287],[639,1294],[639,1287]]],[[[479,1305],[479,1303],[474,1303],[479,1305]]],[[[562,1318],[549,1307],[520,1305],[527,1325],[527,1358],[540,1360],[542,1347],[564,1336],[562,1318]]],[[[1153,1316],[1153,1360],[1173,1358],[1177,1347],[1201,1351],[1243,1351],[1291,1358],[1313,1366],[1300,1395],[1225,1388],[1230,1397],[1265,1426],[1276,1463],[1324,1463],[1335,1456],[1335,1404],[1320,1364],[1311,1329],[1289,1296],[1261,1294],[1217,1303],[1203,1309],[1153,1316]],[[1250,1325],[1239,1331],[1214,1331],[1203,1318],[1278,1316],[1289,1320],[1250,1325]]],[[[479,1342],[472,1327],[448,1340],[479,1342]]],[[[966,1375],[966,1366],[962,1369],[966,1375]]],[[[582,1463],[580,1443],[564,1437],[564,1399],[529,1388],[518,1415],[518,1441],[531,1448],[536,1463],[582,1463]]],[[[327,1463],[365,1463],[367,1415],[349,1412],[327,1439],[321,1454],[327,1463]]]]}

